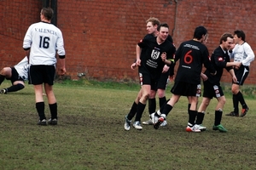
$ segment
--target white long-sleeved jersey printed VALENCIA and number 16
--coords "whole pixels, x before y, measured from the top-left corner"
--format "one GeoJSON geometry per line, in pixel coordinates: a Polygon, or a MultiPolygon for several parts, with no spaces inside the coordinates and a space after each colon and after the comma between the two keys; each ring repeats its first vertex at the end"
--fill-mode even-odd
{"type": "Polygon", "coordinates": [[[24,37],[23,48],[30,48],[31,65],[55,65],[56,50],[65,55],[61,30],[56,26],[38,22],[29,26],[24,37]]]}

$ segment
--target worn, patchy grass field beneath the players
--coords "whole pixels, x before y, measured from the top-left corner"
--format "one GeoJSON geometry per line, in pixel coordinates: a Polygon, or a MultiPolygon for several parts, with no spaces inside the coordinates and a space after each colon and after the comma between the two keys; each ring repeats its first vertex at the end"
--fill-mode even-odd
{"type": "MultiPolygon", "coordinates": [[[[1,88],[7,86],[5,81],[1,88]]],[[[167,98],[171,97],[170,88],[167,98]]],[[[256,169],[254,88],[243,88],[250,108],[247,116],[223,116],[228,133],[212,130],[215,99],[205,116],[207,131],[185,132],[188,114],[184,97],[167,117],[166,127],[125,131],[124,116],[138,89],[137,85],[106,82],[55,83],[59,122],[54,127],[36,125],[31,85],[1,95],[0,169],[256,169]]],[[[232,110],[232,100],[230,87],[224,89],[225,114],[232,110]]],[[[143,114],[145,120],[148,109],[143,114]]]]}

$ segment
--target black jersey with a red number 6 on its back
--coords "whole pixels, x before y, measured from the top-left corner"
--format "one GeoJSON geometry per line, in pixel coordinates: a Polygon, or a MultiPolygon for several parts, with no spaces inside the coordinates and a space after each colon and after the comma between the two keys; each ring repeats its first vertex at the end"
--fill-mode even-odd
{"type": "Polygon", "coordinates": [[[181,43],[175,54],[175,60],[177,61],[178,59],[179,66],[175,81],[200,84],[202,64],[211,73],[215,73],[215,69],[209,59],[208,49],[201,42],[189,40],[181,43]]]}

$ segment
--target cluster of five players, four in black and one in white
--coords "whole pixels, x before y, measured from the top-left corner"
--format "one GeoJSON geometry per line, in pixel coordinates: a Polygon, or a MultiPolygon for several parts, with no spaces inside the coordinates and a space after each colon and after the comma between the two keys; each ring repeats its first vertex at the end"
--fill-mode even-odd
{"type": "Polygon", "coordinates": [[[249,65],[254,59],[252,48],[245,42],[243,31],[234,31],[234,34],[224,33],[220,37],[219,46],[209,55],[207,46],[207,29],[204,26],[195,28],[192,40],[182,42],[179,48],[173,45],[169,35],[169,26],[160,24],[156,18],[147,21],[148,35],[137,43],[137,59],[131,69],[138,66],[138,75],[141,90],[125,116],[125,130],[130,130],[132,124],[137,130],[142,130],[141,118],[148,101],[149,120],[143,124],[154,125],[155,129],[166,126],[166,117],[181,96],[188,98],[189,121],[187,132],[200,133],[207,127],[202,122],[212,98],[218,100],[215,108],[215,119],[212,130],[227,132],[221,124],[225,104],[224,92],[220,86],[220,79],[224,69],[232,77],[232,93],[234,111],[226,116],[239,116],[239,103],[242,106],[241,115],[245,116],[249,110],[239,87],[243,85],[249,73],[249,65]],[[209,57],[210,56],[210,57],[209,57]],[[209,59],[210,58],[210,59],[209,59]],[[230,59],[233,59],[231,61],[230,59]],[[174,75],[174,66],[179,61],[175,82],[171,89],[172,97],[166,100],[165,91],[169,77],[174,75]],[[206,67],[202,71],[202,65],[206,67]],[[167,75],[164,77],[164,75],[167,75]],[[201,105],[197,109],[198,97],[201,96],[201,79],[204,91],[201,105]],[[155,95],[159,94],[160,110],[156,109],[155,95]]]}

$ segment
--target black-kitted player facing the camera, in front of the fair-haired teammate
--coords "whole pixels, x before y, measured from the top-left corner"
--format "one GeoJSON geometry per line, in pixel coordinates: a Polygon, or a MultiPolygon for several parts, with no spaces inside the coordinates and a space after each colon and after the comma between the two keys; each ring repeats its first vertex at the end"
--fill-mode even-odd
{"type": "MultiPolygon", "coordinates": [[[[143,48],[141,55],[137,55],[139,78],[143,92],[137,105],[137,114],[133,124],[133,127],[138,130],[143,129],[141,117],[151,89],[156,90],[156,82],[160,78],[164,65],[172,65],[172,62],[168,59],[173,59],[173,54],[175,53],[172,42],[166,40],[169,34],[169,26],[165,23],[160,24],[157,30],[159,31],[157,37],[146,37],[138,42],[138,46],[143,48]],[[162,54],[165,55],[162,57],[162,54]]],[[[132,116],[134,115],[128,114],[125,116],[125,130],[130,129],[132,116]]]]}

